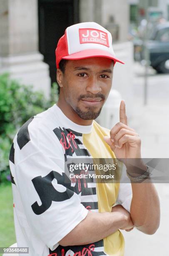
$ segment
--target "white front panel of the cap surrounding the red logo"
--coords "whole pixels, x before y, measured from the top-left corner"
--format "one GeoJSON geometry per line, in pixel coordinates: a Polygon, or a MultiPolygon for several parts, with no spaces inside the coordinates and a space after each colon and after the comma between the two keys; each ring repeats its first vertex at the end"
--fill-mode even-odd
{"type": "Polygon", "coordinates": [[[84,22],[84,23],[78,23],[78,24],[72,25],[66,29],[66,35],[67,35],[67,45],[68,45],[69,55],[79,51],[83,51],[83,50],[99,49],[99,50],[107,51],[113,56],[115,56],[113,47],[112,47],[111,33],[95,22],[84,22]],[[104,46],[102,44],[96,44],[96,43],[80,44],[79,28],[93,28],[93,29],[98,29],[106,32],[108,35],[109,47],[104,46]]]}

